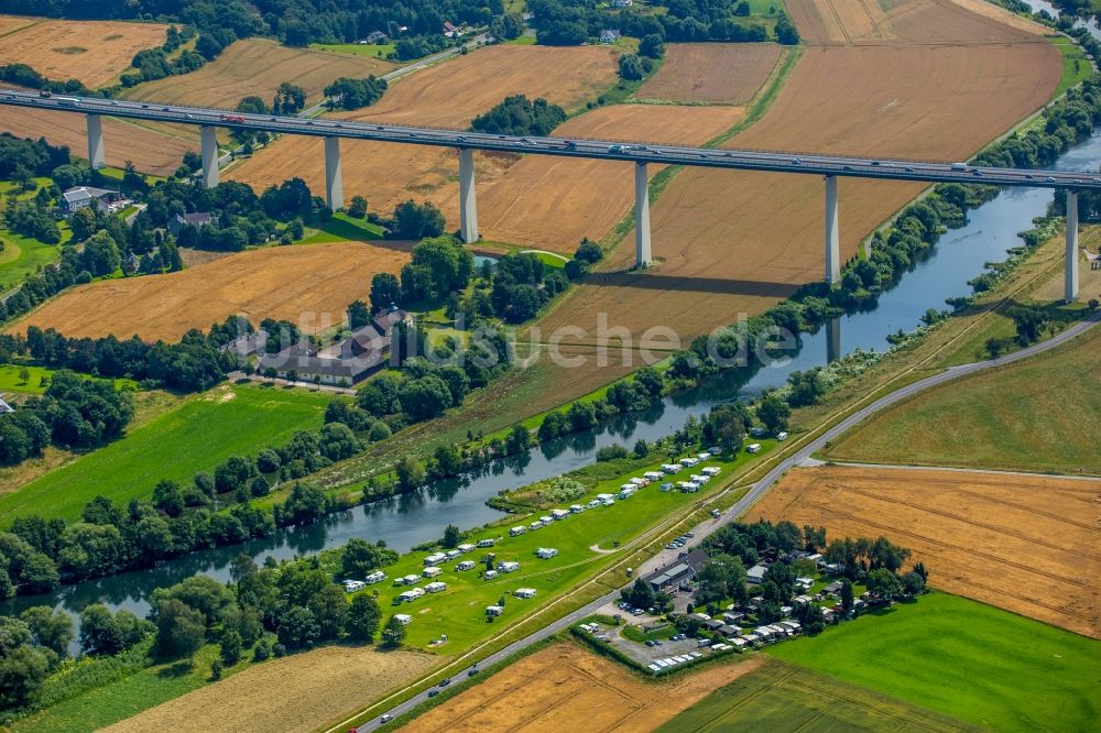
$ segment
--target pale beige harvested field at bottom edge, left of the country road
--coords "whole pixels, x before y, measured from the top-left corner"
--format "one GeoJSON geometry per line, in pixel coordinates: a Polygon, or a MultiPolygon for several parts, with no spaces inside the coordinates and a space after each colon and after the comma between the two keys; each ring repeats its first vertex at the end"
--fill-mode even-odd
{"type": "Polygon", "coordinates": [[[383,698],[439,661],[413,652],[324,647],[250,667],[103,730],[306,733],[383,698]]]}

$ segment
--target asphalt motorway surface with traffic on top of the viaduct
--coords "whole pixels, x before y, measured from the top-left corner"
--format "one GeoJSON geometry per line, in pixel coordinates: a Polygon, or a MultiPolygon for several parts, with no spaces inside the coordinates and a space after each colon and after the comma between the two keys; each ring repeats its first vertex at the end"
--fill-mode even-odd
{"type": "MultiPolygon", "coordinates": [[[[454,53],[454,51],[453,51],[454,53]]],[[[400,73],[410,74],[438,61],[438,55],[422,59],[400,73]]],[[[472,150],[554,155],[634,163],[663,163],[697,167],[732,168],[740,171],[768,171],[818,176],[847,176],[886,180],[919,180],[925,183],[983,183],[998,186],[1026,188],[1073,188],[1101,190],[1101,177],[1092,173],[1066,171],[1033,171],[1022,168],[992,168],[937,163],[928,161],[873,160],[840,157],[814,153],[765,152],[637,143],[619,140],[590,140],[575,138],[538,138],[497,135],[421,128],[410,125],[375,124],[323,118],[246,114],[231,110],[161,105],[156,102],[97,99],[53,95],[41,97],[34,91],[0,89],[0,105],[47,109],[62,112],[106,114],[117,118],[175,122],[204,127],[265,131],[270,134],[299,134],[318,138],[347,138],[413,145],[442,147],[469,147],[472,150]]]]}

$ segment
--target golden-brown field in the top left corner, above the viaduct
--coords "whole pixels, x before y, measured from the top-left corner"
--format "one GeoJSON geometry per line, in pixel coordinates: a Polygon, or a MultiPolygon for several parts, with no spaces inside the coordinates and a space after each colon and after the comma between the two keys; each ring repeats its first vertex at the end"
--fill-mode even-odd
{"type": "Polygon", "coordinates": [[[165,41],[167,25],[115,21],[6,18],[0,25],[0,65],[28,64],[43,76],[108,86],[134,55],[165,41]]]}

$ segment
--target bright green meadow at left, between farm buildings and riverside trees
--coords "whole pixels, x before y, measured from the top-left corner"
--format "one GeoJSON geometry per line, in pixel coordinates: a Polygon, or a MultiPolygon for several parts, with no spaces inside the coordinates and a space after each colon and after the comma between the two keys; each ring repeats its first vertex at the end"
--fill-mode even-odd
{"type": "Polygon", "coordinates": [[[331,395],[251,384],[221,385],[102,448],[0,496],[0,525],[20,514],[75,519],[102,494],[116,503],[148,499],[162,479],[187,484],[232,455],[251,456],[321,426],[331,395]]]}

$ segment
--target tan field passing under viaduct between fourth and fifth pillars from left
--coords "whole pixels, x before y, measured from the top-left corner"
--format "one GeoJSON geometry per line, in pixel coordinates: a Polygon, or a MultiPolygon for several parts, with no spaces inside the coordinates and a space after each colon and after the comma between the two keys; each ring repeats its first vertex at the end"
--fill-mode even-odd
{"type": "MultiPolygon", "coordinates": [[[[604,138],[702,144],[734,127],[740,107],[615,105],[567,121],[563,138],[604,138]]],[[[665,166],[648,166],[653,176],[665,166]]],[[[458,186],[447,188],[458,217],[458,186]]],[[[634,166],[528,155],[478,190],[478,222],[486,239],[573,253],[582,237],[600,239],[634,205],[634,166]]]]}

